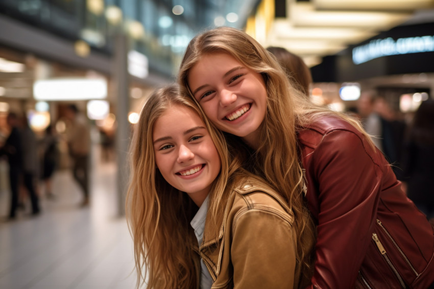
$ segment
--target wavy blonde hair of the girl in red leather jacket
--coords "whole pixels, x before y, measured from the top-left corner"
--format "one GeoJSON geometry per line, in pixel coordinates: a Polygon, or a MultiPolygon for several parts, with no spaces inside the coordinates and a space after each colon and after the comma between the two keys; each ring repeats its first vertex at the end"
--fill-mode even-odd
{"type": "MultiPolygon", "coordinates": [[[[267,89],[267,113],[259,127],[261,143],[254,152],[254,164],[250,169],[282,194],[294,211],[295,228],[298,233],[297,257],[304,266],[302,272],[307,278],[312,273],[314,254],[310,245],[304,241],[315,234],[315,225],[302,194],[304,179],[297,133],[324,115],[341,117],[359,131],[363,132],[363,129],[350,116],[312,104],[300,90],[291,85],[271,53],[254,38],[235,28],[220,27],[205,31],[193,38],[187,46],[177,81],[187,88],[192,100],[195,98],[188,87],[189,69],[204,55],[213,53],[229,54],[246,67],[260,73],[264,79],[267,89]]],[[[236,147],[241,142],[238,137],[225,135],[231,146],[236,147]]]]}

